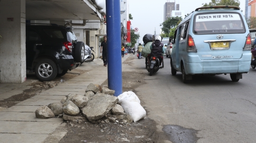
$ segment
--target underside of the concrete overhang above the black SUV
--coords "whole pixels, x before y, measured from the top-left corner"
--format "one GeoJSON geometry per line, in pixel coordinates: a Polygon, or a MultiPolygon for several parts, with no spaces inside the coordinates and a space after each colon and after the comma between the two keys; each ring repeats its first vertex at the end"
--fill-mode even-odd
{"type": "Polygon", "coordinates": [[[89,0],[26,0],[26,20],[101,20],[89,0]]]}

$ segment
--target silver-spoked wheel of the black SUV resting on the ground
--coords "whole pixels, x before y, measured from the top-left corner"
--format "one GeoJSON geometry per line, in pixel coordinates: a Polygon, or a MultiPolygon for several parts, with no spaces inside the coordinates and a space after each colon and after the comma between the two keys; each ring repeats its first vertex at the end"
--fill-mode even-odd
{"type": "Polygon", "coordinates": [[[50,59],[41,59],[35,68],[36,76],[41,81],[51,81],[57,75],[57,66],[50,59]]]}

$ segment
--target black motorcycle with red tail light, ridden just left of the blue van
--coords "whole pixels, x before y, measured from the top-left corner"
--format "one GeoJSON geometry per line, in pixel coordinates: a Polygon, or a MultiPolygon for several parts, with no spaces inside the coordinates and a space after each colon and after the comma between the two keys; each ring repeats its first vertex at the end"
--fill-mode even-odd
{"type": "MultiPolygon", "coordinates": [[[[150,57],[150,54],[148,54],[147,57],[150,57]]],[[[162,66],[160,67],[160,61],[156,56],[151,56],[148,61],[146,58],[146,70],[149,72],[149,76],[152,76],[153,73],[156,73],[159,68],[164,68],[164,60],[162,60],[162,66]]]]}

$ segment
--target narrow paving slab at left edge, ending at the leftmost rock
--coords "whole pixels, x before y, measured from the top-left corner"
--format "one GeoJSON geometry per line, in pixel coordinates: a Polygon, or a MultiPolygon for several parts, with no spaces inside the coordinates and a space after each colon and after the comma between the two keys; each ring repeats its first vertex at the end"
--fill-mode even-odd
{"type": "Polygon", "coordinates": [[[4,112],[36,112],[36,110],[41,106],[20,106],[15,105],[10,108],[3,110],[4,112]]]}

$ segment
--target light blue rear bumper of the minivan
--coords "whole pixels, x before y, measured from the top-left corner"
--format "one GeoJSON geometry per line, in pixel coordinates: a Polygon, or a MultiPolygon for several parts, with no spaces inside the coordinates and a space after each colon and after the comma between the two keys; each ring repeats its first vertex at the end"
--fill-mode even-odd
{"type": "Polygon", "coordinates": [[[251,53],[244,53],[240,59],[201,60],[198,55],[188,55],[183,62],[186,74],[229,74],[247,73],[250,69],[251,53]]]}

